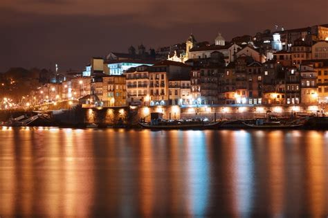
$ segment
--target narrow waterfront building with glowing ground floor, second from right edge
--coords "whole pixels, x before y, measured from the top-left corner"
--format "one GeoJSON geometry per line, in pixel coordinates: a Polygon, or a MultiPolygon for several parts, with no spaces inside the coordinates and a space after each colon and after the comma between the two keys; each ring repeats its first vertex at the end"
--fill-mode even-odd
{"type": "Polygon", "coordinates": [[[318,103],[318,75],[311,65],[301,65],[300,67],[300,88],[301,103],[316,104],[318,103]]]}

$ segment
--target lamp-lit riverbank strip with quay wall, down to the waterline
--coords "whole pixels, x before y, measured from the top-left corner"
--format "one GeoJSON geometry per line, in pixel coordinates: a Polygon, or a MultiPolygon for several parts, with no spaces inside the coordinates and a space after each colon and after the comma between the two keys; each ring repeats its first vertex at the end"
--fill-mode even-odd
{"type": "MultiPolygon", "coordinates": [[[[302,127],[304,129],[328,129],[328,117],[318,116],[320,113],[311,111],[283,111],[270,107],[120,107],[120,108],[85,108],[77,105],[70,109],[57,109],[51,111],[0,111],[0,122],[18,116],[35,116],[40,114],[40,119],[35,120],[30,126],[55,126],[73,128],[140,128],[140,120],[149,121],[150,114],[162,113],[167,120],[179,119],[208,119],[225,121],[219,128],[223,129],[248,129],[243,124],[245,120],[275,116],[280,120],[293,120],[302,116],[311,116],[302,127]],[[261,108],[261,109],[259,109],[261,108]],[[93,125],[93,126],[92,126],[93,125]]],[[[295,108],[294,108],[295,109],[295,108]]]]}

